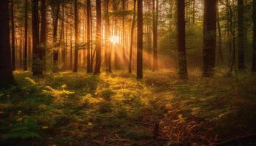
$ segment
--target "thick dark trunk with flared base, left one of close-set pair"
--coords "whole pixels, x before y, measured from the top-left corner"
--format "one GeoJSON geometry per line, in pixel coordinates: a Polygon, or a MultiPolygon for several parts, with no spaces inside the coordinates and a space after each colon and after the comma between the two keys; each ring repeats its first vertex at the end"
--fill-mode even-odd
{"type": "Polygon", "coordinates": [[[33,75],[42,75],[42,64],[39,58],[39,15],[38,0],[32,0],[32,34],[33,34],[33,75]]]}

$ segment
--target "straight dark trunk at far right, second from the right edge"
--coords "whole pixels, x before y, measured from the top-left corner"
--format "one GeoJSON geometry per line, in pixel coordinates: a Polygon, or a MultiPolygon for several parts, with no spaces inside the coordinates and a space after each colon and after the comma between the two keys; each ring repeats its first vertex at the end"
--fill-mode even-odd
{"type": "Polygon", "coordinates": [[[238,69],[244,68],[244,0],[238,0],[238,69]]]}

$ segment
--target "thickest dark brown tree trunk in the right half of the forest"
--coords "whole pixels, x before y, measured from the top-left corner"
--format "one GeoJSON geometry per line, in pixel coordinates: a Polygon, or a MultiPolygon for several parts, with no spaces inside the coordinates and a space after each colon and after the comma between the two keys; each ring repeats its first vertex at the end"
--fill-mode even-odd
{"type": "Polygon", "coordinates": [[[214,75],[217,35],[217,0],[204,1],[203,16],[203,77],[214,75]]]}

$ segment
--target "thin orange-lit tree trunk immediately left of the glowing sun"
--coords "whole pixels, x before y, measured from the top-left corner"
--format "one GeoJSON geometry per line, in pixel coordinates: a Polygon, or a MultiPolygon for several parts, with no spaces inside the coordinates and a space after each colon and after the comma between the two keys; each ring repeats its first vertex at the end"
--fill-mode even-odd
{"type": "Polygon", "coordinates": [[[109,20],[109,0],[105,0],[105,65],[106,71],[111,72],[111,53],[110,53],[110,20],[109,20]]]}

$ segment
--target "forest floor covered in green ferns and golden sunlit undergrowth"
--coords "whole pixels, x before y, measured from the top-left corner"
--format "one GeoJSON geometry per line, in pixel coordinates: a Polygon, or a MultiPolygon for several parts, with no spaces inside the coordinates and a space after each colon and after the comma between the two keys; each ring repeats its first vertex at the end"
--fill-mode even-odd
{"type": "Polygon", "coordinates": [[[0,91],[0,145],[255,145],[256,77],[15,72],[0,91]],[[241,138],[243,137],[243,138],[241,138]],[[234,139],[235,138],[235,139],[234,139]],[[232,142],[229,142],[228,139],[232,142]]]}

